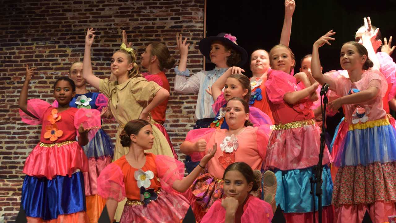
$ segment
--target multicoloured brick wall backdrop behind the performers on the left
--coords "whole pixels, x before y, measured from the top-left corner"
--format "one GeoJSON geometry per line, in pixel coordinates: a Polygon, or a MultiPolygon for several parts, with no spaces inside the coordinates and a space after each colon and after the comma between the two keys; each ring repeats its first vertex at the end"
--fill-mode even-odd
{"type": "MultiPolygon", "coordinates": [[[[18,115],[25,64],[37,67],[30,82],[29,98],[52,102],[55,77],[67,75],[70,64],[82,60],[84,31],[95,27],[92,62],[95,75],[101,78],[110,75],[110,58],[120,45],[121,29],[126,29],[139,55],[152,41],[164,42],[171,54],[178,53],[176,33],[190,37],[193,44],[188,67],[195,73],[202,68],[197,44],[203,36],[203,8],[204,0],[3,0],[0,3],[0,216],[5,216],[5,222],[14,222],[19,211],[23,163],[40,136],[39,126],[23,124],[18,115]]],[[[175,58],[179,57],[175,55],[175,58]]],[[[166,74],[171,96],[164,126],[178,150],[194,124],[196,95],[176,94],[173,69],[166,74]]],[[[113,140],[116,126],[109,121],[103,126],[113,140]]]]}

